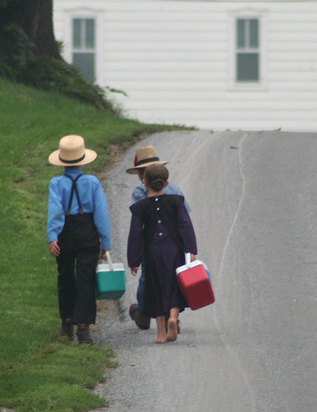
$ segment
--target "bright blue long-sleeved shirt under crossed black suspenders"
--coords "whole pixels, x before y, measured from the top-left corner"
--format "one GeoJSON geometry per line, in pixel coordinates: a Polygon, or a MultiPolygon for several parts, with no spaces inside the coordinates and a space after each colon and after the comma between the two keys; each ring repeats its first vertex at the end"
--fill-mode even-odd
{"type": "MultiPolygon", "coordinates": [[[[53,178],[49,183],[49,200],[47,215],[47,238],[49,242],[57,241],[65,224],[65,215],[68,208],[72,181],[78,176],[77,190],[84,213],[92,213],[97,231],[101,237],[103,249],[110,249],[110,219],[107,198],[96,176],[83,175],[77,167],[66,169],[62,176],[53,178]]],[[[77,197],[74,193],[70,214],[79,213],[77,197]]]]}

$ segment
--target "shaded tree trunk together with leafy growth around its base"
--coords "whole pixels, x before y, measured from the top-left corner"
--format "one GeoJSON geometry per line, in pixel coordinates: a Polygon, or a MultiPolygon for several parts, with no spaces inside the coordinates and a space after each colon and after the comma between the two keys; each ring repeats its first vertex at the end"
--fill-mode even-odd
{"type": "Polygon", "coordinates": [[[52,2],[0,0],[0,77],[56,90],[116,116],[105,92],[61,58],[53,31],[52,2]]]}

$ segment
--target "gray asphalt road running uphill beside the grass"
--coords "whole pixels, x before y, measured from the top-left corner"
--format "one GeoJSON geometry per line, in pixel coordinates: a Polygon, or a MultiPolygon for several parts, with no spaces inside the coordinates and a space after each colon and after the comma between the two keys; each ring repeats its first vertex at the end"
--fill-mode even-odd
{"type": "MultiPolygon", "coordinates": [[[[153,144],[193,211],[198,258],[216,302],[181,314],[174,343],[154,344],[127,310],[96,334],[120,367],[96,392],[109,412],[317,411],[317,133],[179,131],[153,144]]],[[[113,258],[126,264],[132,147],[108,173],[113,258]]]]}

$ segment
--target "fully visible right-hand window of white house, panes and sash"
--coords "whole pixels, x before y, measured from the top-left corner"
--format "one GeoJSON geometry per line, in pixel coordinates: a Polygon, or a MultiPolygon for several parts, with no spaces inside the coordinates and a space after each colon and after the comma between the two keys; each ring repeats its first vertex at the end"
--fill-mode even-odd
{"type": "Polygon", "coordinates": [[[260,81],[259,20],[236,20],[236,81],[260,81]]]}

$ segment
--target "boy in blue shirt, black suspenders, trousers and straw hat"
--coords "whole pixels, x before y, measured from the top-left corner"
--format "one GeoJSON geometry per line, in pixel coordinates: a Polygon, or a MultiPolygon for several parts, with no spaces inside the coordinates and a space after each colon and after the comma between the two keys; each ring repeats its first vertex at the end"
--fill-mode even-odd
{"type": "Polygon", "coordinates": [[[79,343],[92,344],[89,324],[96,320],[95,274],[101,257],[110,250],[107,199],[95,176],[83,175],[80,166],[96,159],[85,149],[81,136],[65,136],[49,163],[64,166],[62,176],[49,183],[47,237],[58,265],[61,334],[73,339],[77,325],[79,343]],[[76,274],[75,274],[76,268],[76,274]]]}

